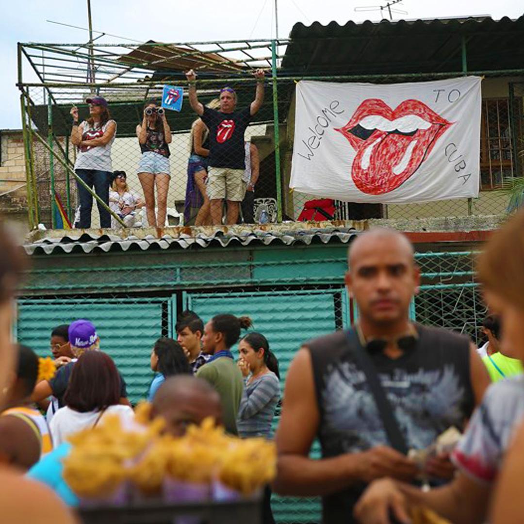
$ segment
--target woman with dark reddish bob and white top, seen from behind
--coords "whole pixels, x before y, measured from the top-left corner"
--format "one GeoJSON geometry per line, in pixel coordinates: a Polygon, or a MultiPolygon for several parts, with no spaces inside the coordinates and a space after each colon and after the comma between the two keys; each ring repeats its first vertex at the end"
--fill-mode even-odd
{"type": "Polygon", "coordinates": [[[120,403],[121,381],[113,359],[102,351],[86,351],[75,364],[65,406],[51,420],[53,446],[58,447],[68,435],[95,427],[107,413],[132,419],[133,409],[120,403]]]}

